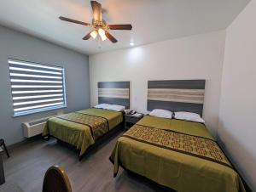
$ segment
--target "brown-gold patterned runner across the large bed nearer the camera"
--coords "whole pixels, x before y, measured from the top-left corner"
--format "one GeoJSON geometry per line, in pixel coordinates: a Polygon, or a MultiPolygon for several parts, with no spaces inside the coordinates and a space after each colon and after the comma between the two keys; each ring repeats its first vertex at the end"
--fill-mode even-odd
{"type": "Polygon", "coordinates": [[[123,136],[138,142],[151,144],[166,150],[172,150],[186,155],[192,155],[207,161],[213,161],[226,167],[233,167],[218,147],[218,144],[209,138],[201,138],[172,130],[134,125],[123,136]]]}

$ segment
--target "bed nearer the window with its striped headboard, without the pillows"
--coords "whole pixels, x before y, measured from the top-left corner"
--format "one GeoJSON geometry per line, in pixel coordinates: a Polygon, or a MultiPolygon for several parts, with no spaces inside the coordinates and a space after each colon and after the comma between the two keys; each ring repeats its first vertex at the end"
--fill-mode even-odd
{"type": "MultiPolygon", "coordinates": [[[[98,103],[130,107],[130,82],[98,82],[98,103]]],[[[51,136],[85,151],[115,128],[124,127],[124,112],[105,109],[79,110],[50,118],[43,136],[51,136]]]]}

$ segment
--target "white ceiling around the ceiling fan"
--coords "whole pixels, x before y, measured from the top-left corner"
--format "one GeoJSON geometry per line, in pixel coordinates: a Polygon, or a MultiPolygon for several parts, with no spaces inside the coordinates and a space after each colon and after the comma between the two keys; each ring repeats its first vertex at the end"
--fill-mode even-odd
{"type": "Polygon", "coordinates": [[[98,0],[108,24],[133,25],[132,31],[110,31],[119,42],[82,37],[90,27],[58,19],[60,15],[90,22],[90,0],[1,0],[0,25],[83,54],[102,53],[167,39],[225,29],[249,0],[98,0]]]}

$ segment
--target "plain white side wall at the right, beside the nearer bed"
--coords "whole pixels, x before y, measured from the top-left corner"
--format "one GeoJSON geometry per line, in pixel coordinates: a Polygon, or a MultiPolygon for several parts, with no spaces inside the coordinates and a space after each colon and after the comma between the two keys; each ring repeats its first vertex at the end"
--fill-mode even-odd
{"type": "Polygon", "coordinates": [[[256,191],[256,1],[228,27],[219,139],[256,191]]]}

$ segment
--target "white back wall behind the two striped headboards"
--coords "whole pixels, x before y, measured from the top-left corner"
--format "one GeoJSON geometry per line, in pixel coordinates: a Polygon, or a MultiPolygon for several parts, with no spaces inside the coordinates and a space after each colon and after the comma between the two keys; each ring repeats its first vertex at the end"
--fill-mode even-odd
{"type": "Polygon", "coordinates": [[[206,79],[203,116],[215,135],[224,39],[225,31],[217,31],[91,55],[91,104],[97,104],[97,82],[101,81],[131,81],[131,108],[145,112],[148,80],[206,79]]]}

